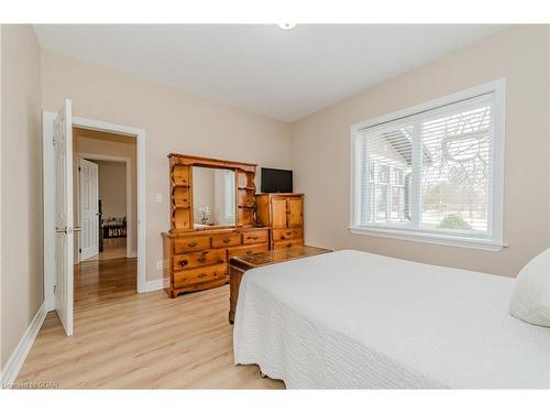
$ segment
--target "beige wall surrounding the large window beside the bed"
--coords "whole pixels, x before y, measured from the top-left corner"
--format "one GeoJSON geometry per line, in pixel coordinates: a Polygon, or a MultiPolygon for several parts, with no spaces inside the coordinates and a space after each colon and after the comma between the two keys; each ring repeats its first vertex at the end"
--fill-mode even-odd
{"type": "Polygon", "coordinates": [[[515,276],[549,247],[549,30],[514,26],[292,126],[295,189],[306,194],[306,241],[515,276]],[[506,77],[502,252],[352,235],[350,127],[359,121],[506,77]]]}

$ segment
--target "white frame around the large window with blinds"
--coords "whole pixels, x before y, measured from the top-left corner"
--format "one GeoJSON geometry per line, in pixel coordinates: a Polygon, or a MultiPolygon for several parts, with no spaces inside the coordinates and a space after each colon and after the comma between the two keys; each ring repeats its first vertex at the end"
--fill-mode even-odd
{"type": "MultiPolygon", "coordinates": [[[[501,78],[465,90],[461,90],[441,98],[432,99],[424,104],[398,110],[382,117],[354,123],[351,127],[350,139],[350,226],[349,229],[355,235],[376,236],[410,240],[428,243],[437,243],[452,247],[474,248],[488,251],[499,251],[507,247],[504,242],[504,154],[505,154],[505,124],[506,124],[506,79],[501,78]],[[422,229],[400,229],[382,226],[355,226],[355,140],[365,128],[391,122],[400,118],[417,115],[439,107],[471,99],[480,95],[494,94],[494,133],[491,141],[491,170],[493,176],[493,192],[490,194],[490,206],[492,214],[487,217],[491,222],[492,236],[488,238],[469,237],[468,235],[451,235],[433,232],[422,229]]],[[[367,200],[370,202],[370,200],[367,200]]]]}

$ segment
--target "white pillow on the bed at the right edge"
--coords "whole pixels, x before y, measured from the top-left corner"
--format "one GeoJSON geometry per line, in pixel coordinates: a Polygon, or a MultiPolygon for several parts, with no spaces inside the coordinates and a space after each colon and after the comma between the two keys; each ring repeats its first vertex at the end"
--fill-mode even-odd
{"type": "Polygon", "coordinates": [[[510,314],[524,322],[550,327],[550,248],[519,271],[510,314]]]}

